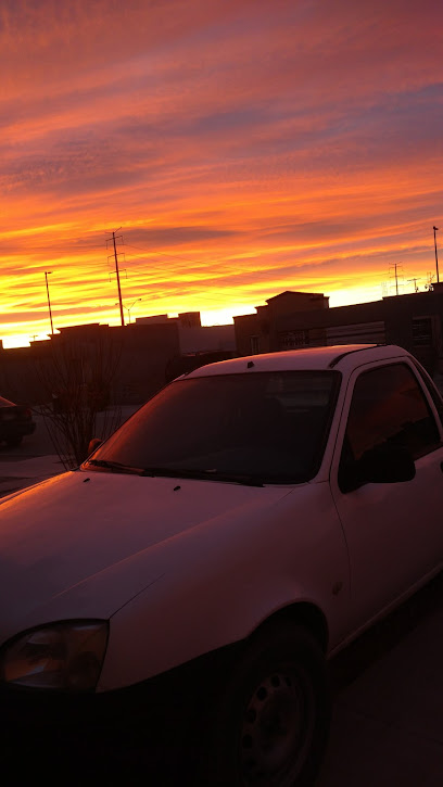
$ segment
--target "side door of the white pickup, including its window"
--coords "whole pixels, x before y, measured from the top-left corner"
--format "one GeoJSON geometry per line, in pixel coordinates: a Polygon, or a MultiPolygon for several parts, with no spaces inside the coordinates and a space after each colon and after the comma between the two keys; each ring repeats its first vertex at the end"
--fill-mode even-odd
{"type": "Polygon", "coordinates": [[[442,566],[442,428],[425,389],[406,357],[350,379],[331,490],[349,548],[354,629],[442,566]],[[414,478],[349,488],[349,467],[383,446],[407,449],[414,478]]]}

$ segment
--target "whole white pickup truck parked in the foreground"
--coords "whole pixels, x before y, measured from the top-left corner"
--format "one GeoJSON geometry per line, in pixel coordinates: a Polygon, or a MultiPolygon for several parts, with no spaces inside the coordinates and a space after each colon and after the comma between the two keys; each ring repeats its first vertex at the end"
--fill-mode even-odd
{"type": "Polygon", "coordinates": [[[313,784],[328,659],[442,569],[442,414],[397,346],[236,358],[3,498],[10,742],[48,708],[98,731],[135,702],[149,763],[167,697],[203,784],[313,784]]]}

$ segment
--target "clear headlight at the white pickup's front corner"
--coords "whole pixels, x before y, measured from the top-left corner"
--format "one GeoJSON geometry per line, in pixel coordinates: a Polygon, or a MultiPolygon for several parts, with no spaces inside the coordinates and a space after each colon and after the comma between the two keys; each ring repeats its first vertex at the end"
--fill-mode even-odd
{"type": "Polygon", "coordinates": [[[0,678],[31,688],[96,688],[107,645],[106,621],[67,621],[16,637],[0,653],[0,678]]]}

